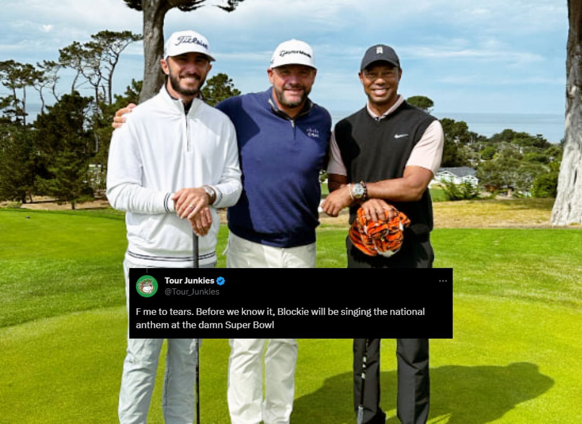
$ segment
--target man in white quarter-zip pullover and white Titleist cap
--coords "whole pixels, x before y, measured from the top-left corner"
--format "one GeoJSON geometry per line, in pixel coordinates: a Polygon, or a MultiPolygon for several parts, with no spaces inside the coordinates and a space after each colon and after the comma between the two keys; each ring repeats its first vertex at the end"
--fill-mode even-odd
{"type": "MultiPolygon", "coordinates": [[[[161,59],[166,84],[113,132],[107,197],[126,212],[123,262],[129,307],[130,268],[190,268],[192,230],[199,262],[216,262],[217,208],[232,206],[242,185],[236,133],[228,117],[198,99],[214,58],[194,31],[173,33],[161,59]]],[[[163,339],[127,339],[119,421],[144,423],[163,339]]],[[[194,421],[196,339],[168,339],[162,395],[166,423],[194,421]]]]}

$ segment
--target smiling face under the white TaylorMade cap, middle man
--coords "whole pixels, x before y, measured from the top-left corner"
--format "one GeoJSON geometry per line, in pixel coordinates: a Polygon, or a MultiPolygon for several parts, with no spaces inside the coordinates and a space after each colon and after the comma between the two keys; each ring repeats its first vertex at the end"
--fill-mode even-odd
{"type": "Polygon", "coordinates": [[[306,65],[282,65],[267,69],[267,73],[277,107],[290,117],[296,116],[311,92],[317,71],[306,65]]]}

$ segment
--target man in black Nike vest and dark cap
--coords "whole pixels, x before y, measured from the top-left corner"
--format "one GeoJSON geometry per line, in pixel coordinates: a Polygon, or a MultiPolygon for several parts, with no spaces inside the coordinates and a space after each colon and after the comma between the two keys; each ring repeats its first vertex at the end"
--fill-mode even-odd
{"type": "MultiPolygon", "coordinates": [[[[360,69],[368,102],[335,126],[328,166],[332,193],[322,208],[337,216],[350,206],[350,223],[360,206],[368,220],[384,218],[384,211],[391,213],[396,208],[411,221],[402,249],[390,257],[367,256],[347,237],[348,268],[431,268],[434,254],[428,183],[441,163],[441,124],[398,94],[402,69],[392,48],[382,44],[370,47],[360,69]]],[[[354,339],[354,403],[357,410],[366,340],[363,422],[384,423],[385,414],[379,407],[380,339],[354,339]]],[[[430,397],[428,339],[397,339],[396,355],[398,418],[403,424],[425,423],[430,397]]]]}

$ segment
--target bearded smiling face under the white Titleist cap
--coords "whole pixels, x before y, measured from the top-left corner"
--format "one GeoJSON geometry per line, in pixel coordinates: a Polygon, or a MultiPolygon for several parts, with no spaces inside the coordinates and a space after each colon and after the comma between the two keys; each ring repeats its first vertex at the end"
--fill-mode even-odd
{"type": "Polygon", "coordinates": [[[208,56],[189,52],[178,56],[168,56],[161,60],[162,70],[168,76],[168,92],[184,102],[198,96],[200,88],[212,65],[208,56]]]}

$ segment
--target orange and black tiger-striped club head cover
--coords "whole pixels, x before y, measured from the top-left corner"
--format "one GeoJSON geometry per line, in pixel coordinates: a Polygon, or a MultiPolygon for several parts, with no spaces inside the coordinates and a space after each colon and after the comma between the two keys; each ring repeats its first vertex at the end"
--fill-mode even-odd
{"type": "Polygon", "coordinates": [[[384,219],[377,222],[368,220],[364,209],[358,209],[358,214],[350,227],[350,240],[354,246],[368,256],[382,255],[389,258],[402,247],[404,228],[410,225],[410,219],[398,209],[384,211],[384,219]]]}

